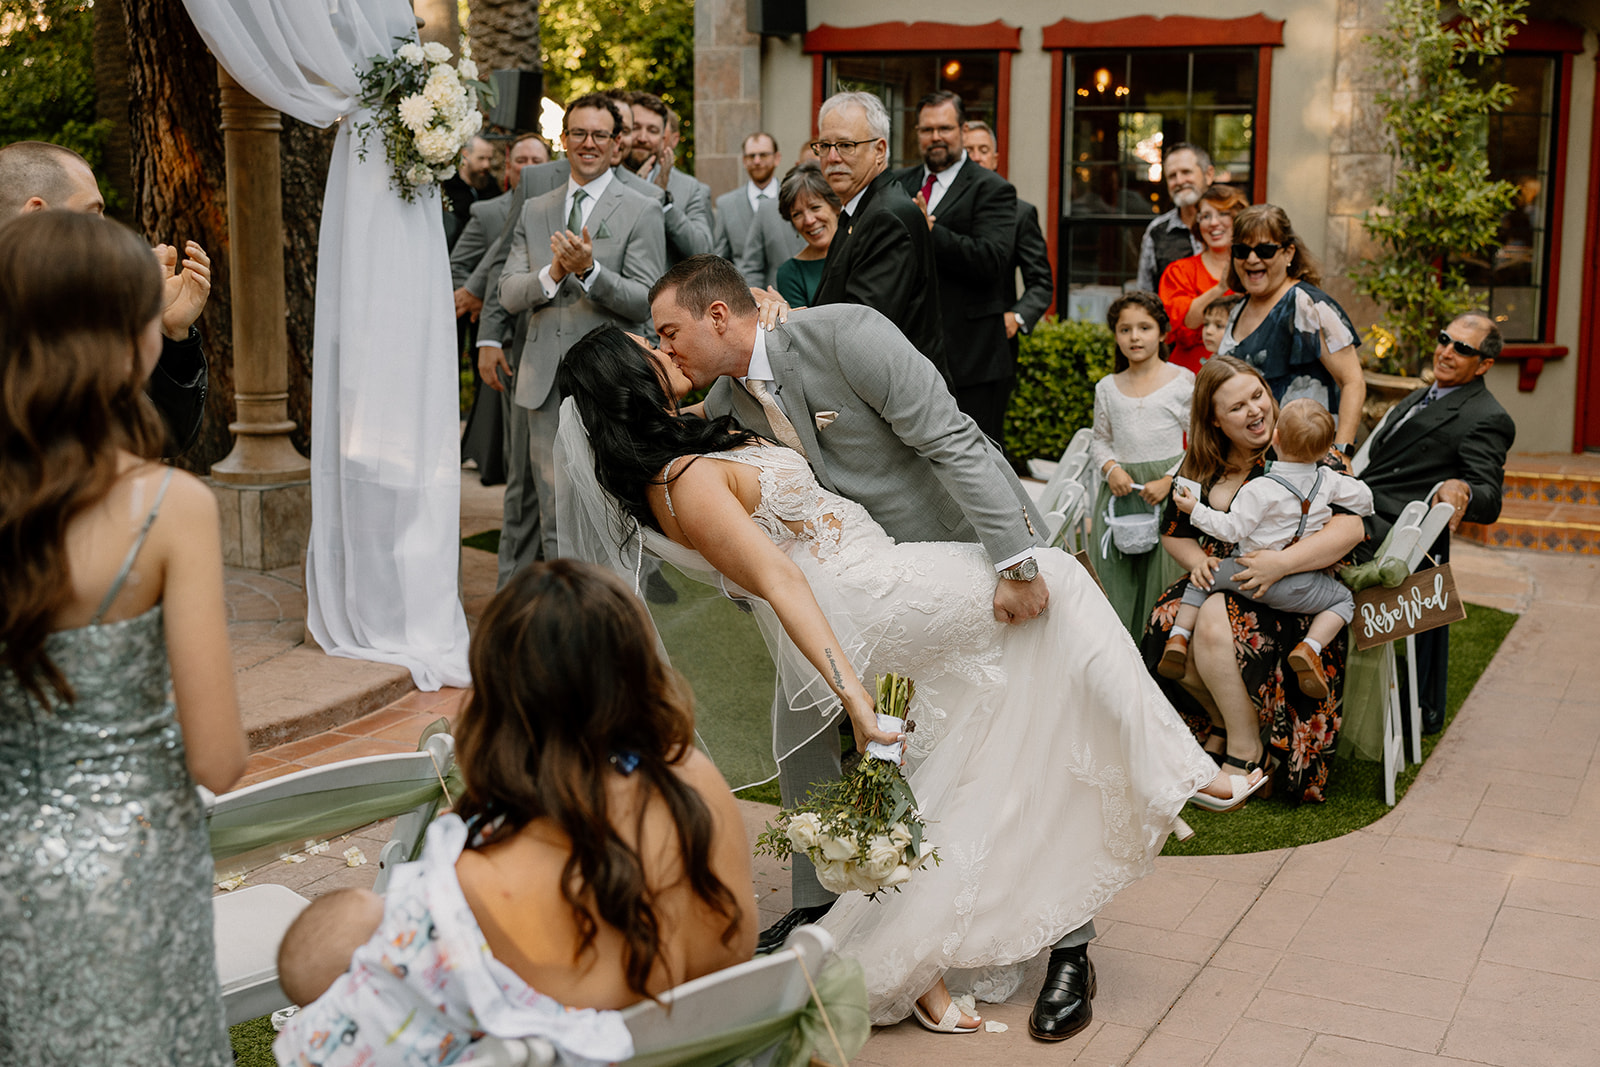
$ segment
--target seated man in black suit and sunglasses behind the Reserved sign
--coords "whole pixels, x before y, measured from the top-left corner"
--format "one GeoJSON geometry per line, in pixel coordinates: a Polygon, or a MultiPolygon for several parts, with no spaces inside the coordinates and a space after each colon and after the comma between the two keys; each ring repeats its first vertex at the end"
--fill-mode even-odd
{"type": "MultiPolygon", "coordinates": [[[[1378,544],[1400,510],[1435,485],[1430,502],[1453,504],[1456,514],[1429,550],[1434,560],[1450,558],[1450,534],[1462,520],[1499,518],[1506,453],[1517,437],[1515,422],[1483,382],[1499,350],[1499,326],[1483,312],[1467,312],[1438,331],[1434,384],[1397,403],[1373,430],[1366,450],[1360,478],[1373,490],[1370,544],[1378,544]]],[[[1422,729],[1437,733],[1445,726],[1450,627],[1418,633],[1416,651],[1422,729]]]]}

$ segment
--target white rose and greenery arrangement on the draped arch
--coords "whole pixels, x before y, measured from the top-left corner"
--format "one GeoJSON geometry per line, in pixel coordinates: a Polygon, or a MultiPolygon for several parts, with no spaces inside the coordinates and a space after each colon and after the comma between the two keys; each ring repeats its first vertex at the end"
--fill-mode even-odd
{"type": "Polygon", "coordinates": [[[450,178],[461,165],[461,149],[483,128],[480,94],[493,101],[494,90],[478,80],[466,45],[454,66],[438,42],[408,40],[394,56],[373,56],[362,74],[360,102],[373,118],[355,125],[360,157],[366,158],[366,138],[381,131],[390,181],[411,203],[418,190],[450,178]]]}

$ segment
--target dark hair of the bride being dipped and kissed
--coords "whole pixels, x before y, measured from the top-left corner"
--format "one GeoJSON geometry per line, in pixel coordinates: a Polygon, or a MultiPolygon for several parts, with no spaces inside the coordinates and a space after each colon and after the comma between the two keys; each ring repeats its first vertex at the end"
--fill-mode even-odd
{"type": "Polygon", "coordinates": [[[757,440],[738,429],[733,416],[706,421],[675,414],[677,402],[654,360],[616,326],[584,334],[562,360],[555,382],[578,403],[600,488],[651,530],[661,530],[661,523],[650,512],[650,486],[677,478],[690,466],[678,464],[666,478],[669,462],[757,440]]]}

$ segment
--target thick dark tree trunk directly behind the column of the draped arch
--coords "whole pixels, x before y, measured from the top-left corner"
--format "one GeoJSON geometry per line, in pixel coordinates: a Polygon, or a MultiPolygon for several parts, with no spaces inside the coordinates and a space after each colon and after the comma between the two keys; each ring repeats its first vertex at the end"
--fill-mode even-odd
{"type": "MultiPolygon", "coordinates": [[[[102,0],[104,2],[104,0],[102,0]]],[[[125,3],[134,227],[152,243],[198,242],[211,256],[211,299],[197,323],[211,365],[200,440],[182,466],[206,472],[232,448],[234,341],[229,301],[227,171],[216,61],[181,0],[125,3]]],[[[290,334],[290,418],[309,451],[310,349],[317,227],[333,149],[331,130],[283,117],[285,286],[290,334]]]]}

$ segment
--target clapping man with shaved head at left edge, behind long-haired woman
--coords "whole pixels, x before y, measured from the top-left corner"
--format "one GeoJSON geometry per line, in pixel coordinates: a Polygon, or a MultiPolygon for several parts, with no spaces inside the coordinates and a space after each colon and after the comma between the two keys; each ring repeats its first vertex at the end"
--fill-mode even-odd
{"type": "MultiPolygon", "coordinates": [[[[18,141],[0,147],[0,219],[27,211],[82,211],[106,214],[106,198],[88,160],[59,144],[18,141]]],[[[48,250],[40,250],[48,254],[48,250]]],[[[195,320],[211,294],[211,259],[200,245],[178,250],[157,245],[162,264],[162,360],[144,384],[166,424],[166,454],[176,456],[194,443],[205,418],[210,384],[205,352],[195,320]]]]}

